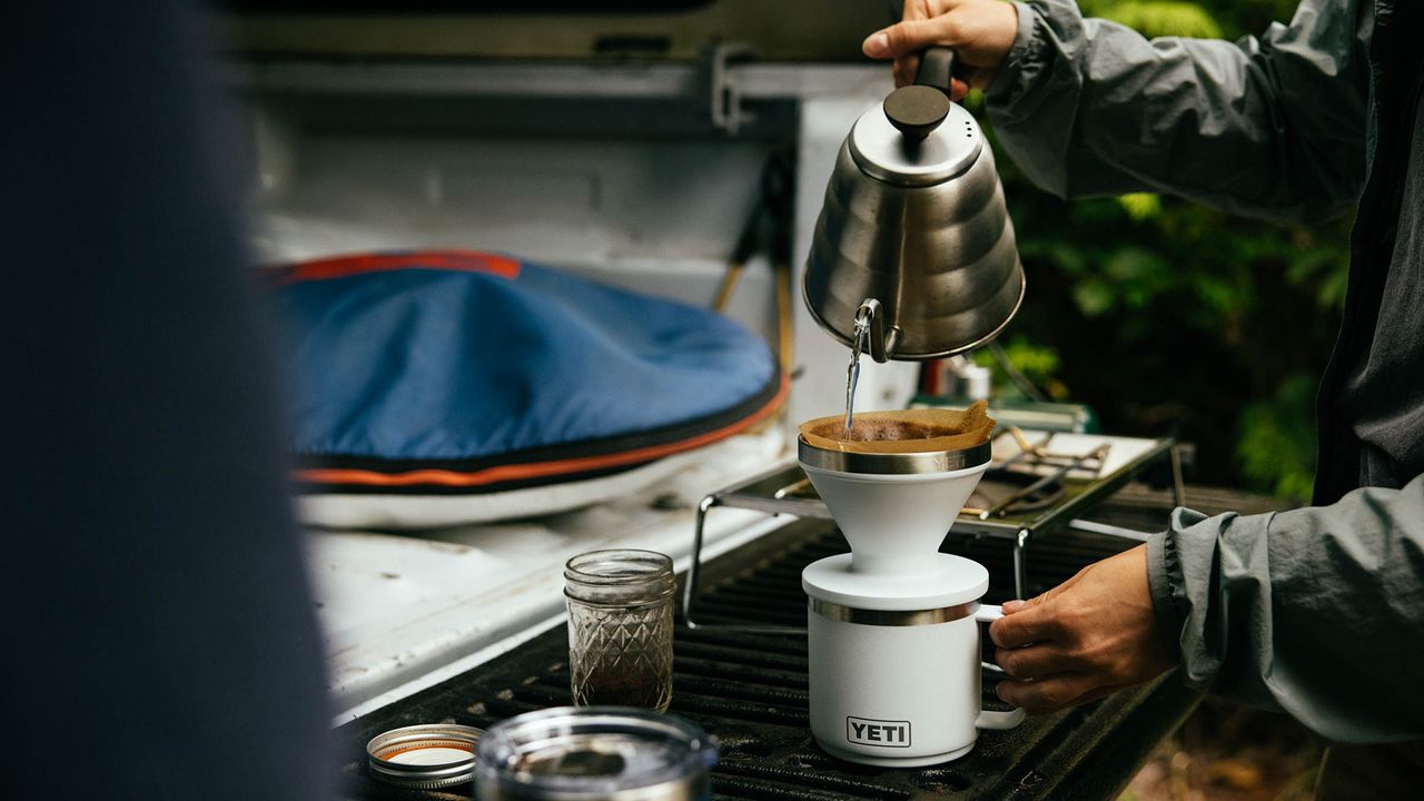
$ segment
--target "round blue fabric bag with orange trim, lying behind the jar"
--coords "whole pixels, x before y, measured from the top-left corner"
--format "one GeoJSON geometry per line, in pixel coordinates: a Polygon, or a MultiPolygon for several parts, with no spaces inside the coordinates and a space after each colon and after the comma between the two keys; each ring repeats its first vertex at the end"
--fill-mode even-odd
{"type": "Polygon", "coordinates": [[[766,343],[706,309],[470,251],[268,271],[298,479],[319,493],[490,493],[728,438],[786,395],[766,343]]]}

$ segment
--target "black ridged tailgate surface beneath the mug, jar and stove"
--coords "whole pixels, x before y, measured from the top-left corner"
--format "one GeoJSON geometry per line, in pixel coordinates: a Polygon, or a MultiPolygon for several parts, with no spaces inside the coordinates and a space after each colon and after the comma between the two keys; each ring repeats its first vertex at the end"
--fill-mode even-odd
{"type": "MultiPolygon", "coordinates": [[[[1250,510],[1235,493],[1189,496],[1212,512],[1250,510]]],[[[1171,495],[1121,492],[1098,515],[1111,524],[1149,526],[1165,519],[1171,495]]],[[[1062,582],[1084,564],[1134,544],[1121,537],[1064,530],[1034,552],[1030,593],[1062,582]]],[[[956,532],[944,550],[990,570],[990,603],[1010,597],[1012,550],[995,537],[956,532]]],[[[701,614],[709,623],[803,626],[800,570],[843,553],[839,532],[819,519],[796,520],[703,566],[701,614]]],[[[568,634],[553,629],[518,648],[340,727],[349,798],[454,800],[470,788],[402,791],[366,774],[365,743],[380,731],[417,723],[490,727],[520,713],[571,700],[568,634]]],[[[995,677],[984,676],[985,706],[995,677]]],[[[812,741],[806,694],[805,636],[756,634],[678,626],[674,644],[672,713],[696,721],[721,744],[713,797],[830,800],[1112,798],[1152,747],[1189,714],[1198,696],[1176,674],[1062,713],[1030,717],[1011,731],[987,731],[974,751],[928,768],[874,768],[843,763],[812,741]]]]}

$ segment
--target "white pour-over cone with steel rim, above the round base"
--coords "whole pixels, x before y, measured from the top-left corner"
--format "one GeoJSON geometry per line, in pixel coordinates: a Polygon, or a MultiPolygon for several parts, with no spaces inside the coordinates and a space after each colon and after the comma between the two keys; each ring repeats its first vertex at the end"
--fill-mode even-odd
{"type": "Polygon", "coordinates": [[[853,572],[914,576],[937,570],[934,554],[988,469],[988,450],[867,459],[802,440],[800,463],[850,543],[853,572]]]}

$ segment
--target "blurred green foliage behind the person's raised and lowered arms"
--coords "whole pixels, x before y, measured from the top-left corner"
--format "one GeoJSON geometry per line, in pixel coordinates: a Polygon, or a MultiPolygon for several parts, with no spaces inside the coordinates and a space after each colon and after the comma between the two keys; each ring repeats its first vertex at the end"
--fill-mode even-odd
{"type": "MultiPolygon", "coordinates": [[[[1079,6],[1146,36],[1237,38],[1296,0],[1079,6]]],[[[1307,499],[1350,221],[1283,227],[1151,194],[1062,202],[1000,165],[1030,281],[1004,338],[1015,366],[1105,430],[1195,442],[1198,480],[1307,499]]]]}

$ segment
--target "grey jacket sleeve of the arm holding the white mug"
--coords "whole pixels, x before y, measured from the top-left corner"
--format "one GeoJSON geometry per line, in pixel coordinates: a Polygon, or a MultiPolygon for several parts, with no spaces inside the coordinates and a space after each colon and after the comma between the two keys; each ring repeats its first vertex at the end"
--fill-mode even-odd
{"type": "Polygon", "coordinates": [[[1424,737],[1424,476],[1274,515],[1178,509],[1148,579],[1188,684],[1331,740],[1424,737]]]}

